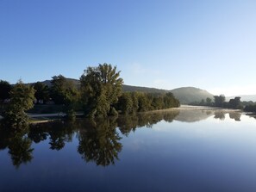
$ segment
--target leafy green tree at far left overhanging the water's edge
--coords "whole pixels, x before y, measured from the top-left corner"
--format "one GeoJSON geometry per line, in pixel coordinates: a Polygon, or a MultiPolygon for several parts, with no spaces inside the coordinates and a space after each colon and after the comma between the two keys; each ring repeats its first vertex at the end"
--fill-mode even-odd
{"type": "Polygon", "coordinates": [[[10,102],[5,112],[5,121],[10,127],[22,128],[27,124],[28,115],[25,111],[34,107],[34,88],[25,85],[22,81],[10,90],[10,102]]]}

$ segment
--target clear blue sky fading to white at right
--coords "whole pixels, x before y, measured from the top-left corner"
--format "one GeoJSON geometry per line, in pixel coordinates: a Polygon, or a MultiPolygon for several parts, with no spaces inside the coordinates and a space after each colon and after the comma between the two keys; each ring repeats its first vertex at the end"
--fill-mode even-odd
{"type": "Polygon", "coordinates": [[[125,84],[256,94],[256,1],[0,0],[0,79],[104,62],[125,84]]]}

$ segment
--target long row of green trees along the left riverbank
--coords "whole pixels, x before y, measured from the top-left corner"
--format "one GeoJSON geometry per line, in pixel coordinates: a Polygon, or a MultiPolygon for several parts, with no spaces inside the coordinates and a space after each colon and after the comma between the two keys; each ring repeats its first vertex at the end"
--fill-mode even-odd
{"type": "Polygon", "coordinates": [[[70,119],[75,118],[76,111],[94,118],[179,107],[172,93],[123,92],[120,72],[116,66],[104,63],[87,67],[79,84],[62,75],[52,77],[51,86],[41,82],[23,84],[21,80],[12,86],[2,80],[1,115],[12,126],[20,127],[28,122],[25,112],[34,107],[34,101],[59,104],[70,119]]]}

